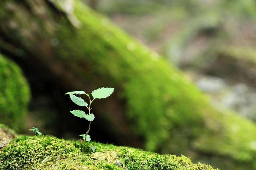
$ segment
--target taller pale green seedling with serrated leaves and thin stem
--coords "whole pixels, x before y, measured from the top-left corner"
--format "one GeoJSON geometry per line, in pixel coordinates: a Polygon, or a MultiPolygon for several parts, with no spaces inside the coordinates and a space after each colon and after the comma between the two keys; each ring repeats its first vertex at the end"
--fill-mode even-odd
{"type": "Polygon", "coordinates": [[[88,114],[86,114],[85,111],[83,111],[83,110],[72,110],[72,111],[70,111],[76,117],[84,118],[87,121],[89,121],[88,129],[87,129],[86,133],[80,135],[80,137],[82,137],[82,139],[83,139],[83,148],[82,148],[83,152],[84,152],[85,143],[91,141],[91,137],[89,135],[89,132],[90,132],[90,128],[91,128],[91,123],[94,120],[94,114],[91,113],[91,109],[92,109],[91,104],[95,99],[107,98],[113,92],[114,92],[114,88],[104,88],[104,87],[98,88],[97,90],[94,90],[92,92],[92,97],[93,97],[92,100],[90,98],[90,94],[87,94],[84,91],[74,91],[74,92],[66,93],[70,96],[70,99],[72,100],[72,102],[74,102],[78,106],[86,107],[88,109],[88,114]],[[85,94],[89,98],[89,104],[86,103],[82,98],[77,97],[75,94],[76,95],[85,94]]]}

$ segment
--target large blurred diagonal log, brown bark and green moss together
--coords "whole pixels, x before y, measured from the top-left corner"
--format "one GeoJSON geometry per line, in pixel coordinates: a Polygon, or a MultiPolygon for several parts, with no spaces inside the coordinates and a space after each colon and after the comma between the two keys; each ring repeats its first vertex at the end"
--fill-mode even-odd
{"type": "Polygon", "coordinates": [[[94,113],[122,143],[143,139],[147,150],[255,168],[251,121],[214,109],[179,70],[81,1],[2,0],[0,20],[1,51],[52,75],[60,88],[116,88],[94,113]]]}

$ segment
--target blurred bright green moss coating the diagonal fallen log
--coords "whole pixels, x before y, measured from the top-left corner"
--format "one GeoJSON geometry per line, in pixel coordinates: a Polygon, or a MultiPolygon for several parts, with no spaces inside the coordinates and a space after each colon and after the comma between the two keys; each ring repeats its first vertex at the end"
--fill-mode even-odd
{"type": "Polygon", "coordinates": [[[69,42],[57,47],[56,56],[74,66],[86,60],[97,66],[94,71],[108,77],[113,86],[122,86],[126,115],[133,120],[134,132],[146,140],[146,149],[180,154],[195,147],[198,152],[228,156],[235,161],[253,160],[255,150],[250,146],[256,141],[256,127],[252,122],[231,111],[214,109],[207,96],[175,67],[106,18],[79,1],[74,9],[83,27],[75,35],[64,27],[57,32],[61,42],[69,42]],[[70,58],[70,53],[76,57],[70,58]],[[233,126],[239,128],[232,130],[233,126]],[[250,135],[240,138],[244,131],[250,131],[250,135]],[[204,143],[202,139],[209,141],[204,143]]]}

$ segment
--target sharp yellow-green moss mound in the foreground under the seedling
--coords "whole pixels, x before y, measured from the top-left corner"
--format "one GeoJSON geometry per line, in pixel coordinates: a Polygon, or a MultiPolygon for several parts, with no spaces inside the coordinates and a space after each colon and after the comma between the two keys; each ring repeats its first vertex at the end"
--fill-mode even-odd
{"type": "Polygon", "coordinates": [[[213,170],[209,165],[193,164],[185,156],[159,155],[140,149],[87,143],[52,136],[20,136],[0,151],[0,169],[76,169],[76,170],[213,170]],[[90,150],[96,146],[96,152],[90,150]]]}

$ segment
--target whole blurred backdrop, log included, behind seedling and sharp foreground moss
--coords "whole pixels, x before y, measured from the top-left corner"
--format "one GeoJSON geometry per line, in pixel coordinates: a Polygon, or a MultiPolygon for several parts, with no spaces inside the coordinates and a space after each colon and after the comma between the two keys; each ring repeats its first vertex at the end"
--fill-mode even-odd
{"type": "Polygon", "coordinates": [[[256,169],[255,0],[1,6],[0,123],[78,139],[64,94],[113,87],[92,106],[94,141],[256,169]]]}

